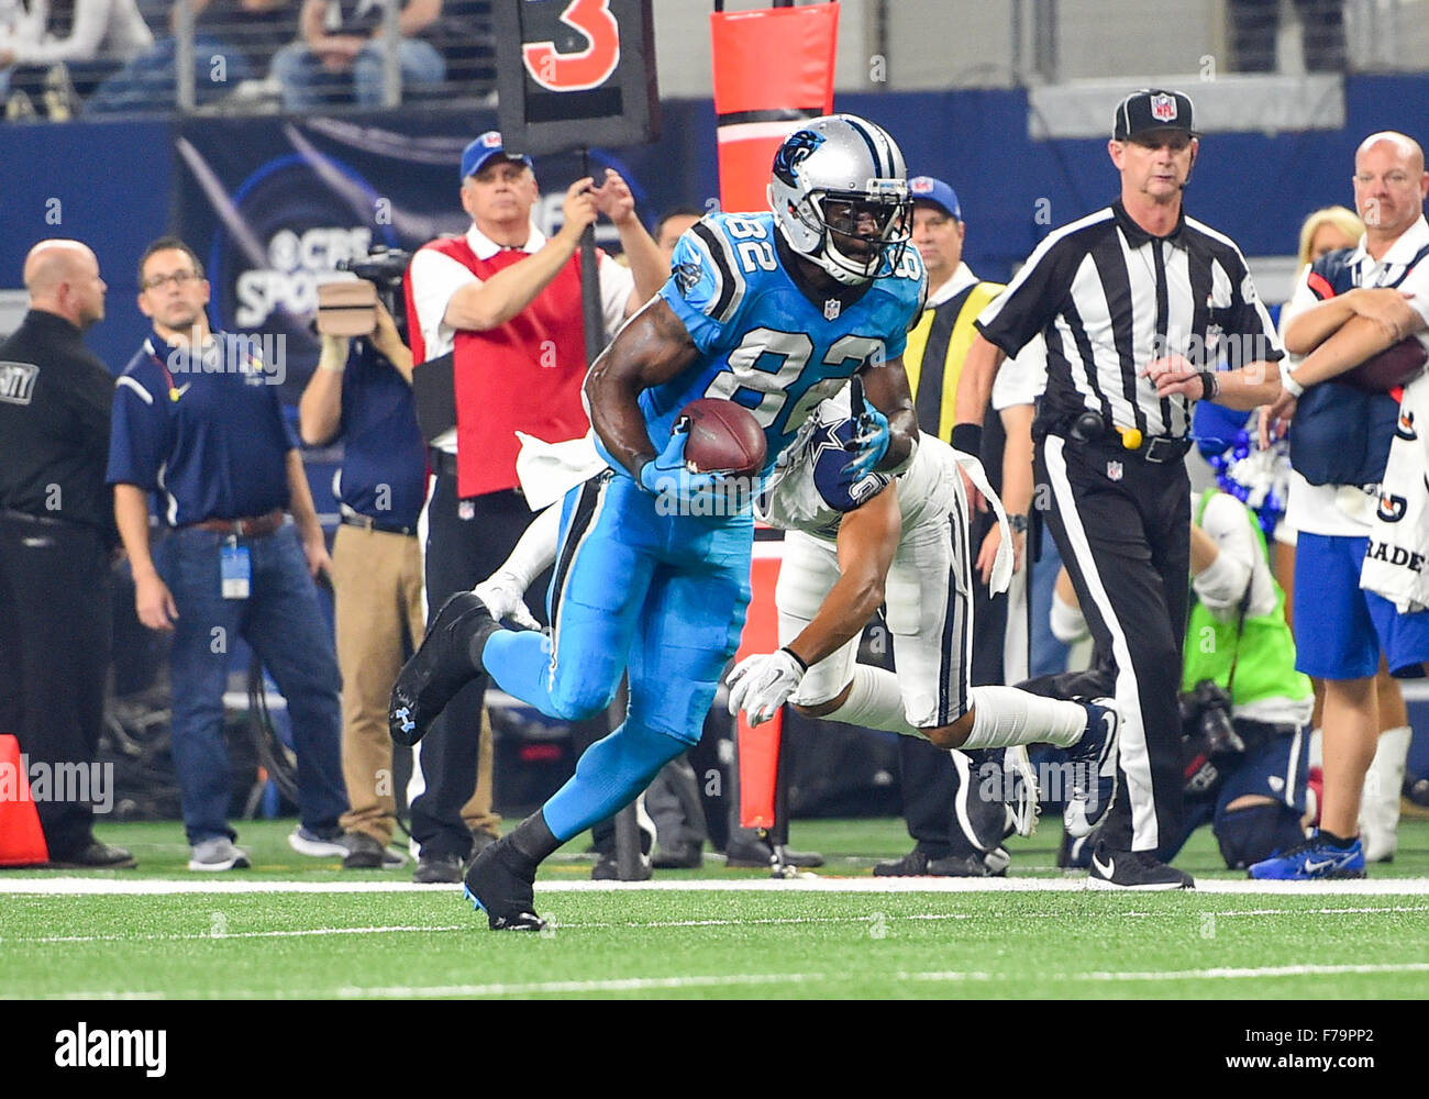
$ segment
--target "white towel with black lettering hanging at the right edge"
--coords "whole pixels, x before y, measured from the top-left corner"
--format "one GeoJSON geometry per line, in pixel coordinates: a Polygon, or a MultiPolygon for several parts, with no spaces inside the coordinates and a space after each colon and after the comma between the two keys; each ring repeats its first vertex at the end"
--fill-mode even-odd
{"type": "Polygon", "coordinates": [[[1405,386],[1359,586],[1400,615],[1429,607],[1429,373],[1405,386]]]}

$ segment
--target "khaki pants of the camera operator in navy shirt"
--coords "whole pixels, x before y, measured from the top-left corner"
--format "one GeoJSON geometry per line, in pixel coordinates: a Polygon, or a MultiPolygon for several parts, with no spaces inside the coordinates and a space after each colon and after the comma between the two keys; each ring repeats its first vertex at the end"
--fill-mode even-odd
{"type": "MultiPolygon", "coordinates": [[[[333,593],[343,675],[343,779],[352,805],[342,826],[387,845],[397,813],[387,702],[402,670],[404,637],[416,643],[424,633],[420,540],[340,526],[333,540],[333,593]]],[[[476,792],[462,819],[492,833],[502,823],[492,812],[492,726],[484,710],[476,792]]]]}

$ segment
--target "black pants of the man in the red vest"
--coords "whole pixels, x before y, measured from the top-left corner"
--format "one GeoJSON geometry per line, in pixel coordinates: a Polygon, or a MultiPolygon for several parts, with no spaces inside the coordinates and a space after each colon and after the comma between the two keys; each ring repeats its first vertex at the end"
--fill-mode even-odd
{"type": "MultiPolygon", "coordinates": [[[[450,596],[469,592],[496,572],[516,549],[532,517],[524,497],[512,490],[459,500],[456,473],[439,473],[427,504],[429,620],[450,596]]],[[[544,586],[540,590],[544,592],[544,586]]],[[[543,619],[543,606],[532,610],[543,619]]],[[[470,852],[472,833],[462,820],[462,807],[476,789],[487,683],[486,676],[467,683],[422,739],[426,789],[412,802],[412,835],[423,855],[464,859],[470,852]]]]}

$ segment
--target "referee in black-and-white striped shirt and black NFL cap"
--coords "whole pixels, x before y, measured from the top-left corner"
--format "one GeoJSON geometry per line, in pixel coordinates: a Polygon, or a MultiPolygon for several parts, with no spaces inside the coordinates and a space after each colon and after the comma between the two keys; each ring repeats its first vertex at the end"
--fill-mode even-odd
{"type": "Polygon", "coordinates": [[[1120,793],[1093,849],[1096,887],[1193,886],[1162,862],[1182,829],[1190,410],[1200,399],[1249,410],[1280,384],[1268,366],[1282,357],[1275,327],[1240,249],[1182,210],[1198,137],[1179,91],[1122,100],[1107,143],[1120,199],[1037,246],[979,316],[957,390],[953,444],[977,453],[997,367],[1046,337],[1039,500],[1050,493],[1046,519],[1097,650],[1110,655],[1106,687],[1123,717],[1120,793]]]}

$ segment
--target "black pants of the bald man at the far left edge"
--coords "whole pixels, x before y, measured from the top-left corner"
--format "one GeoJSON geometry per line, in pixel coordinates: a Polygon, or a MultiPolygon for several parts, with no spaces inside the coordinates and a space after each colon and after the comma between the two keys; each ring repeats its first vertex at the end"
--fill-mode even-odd
{"type": "Polygon", "coordinates": [[[111,630],[99,532],[0,514],[0,733],[16,735],[31,769],[47,767],[50,793],[36,807],[54,860],[93,839],[90,802],[57,796],[57,765],[89,766],[99,752],[111,630]]]}

